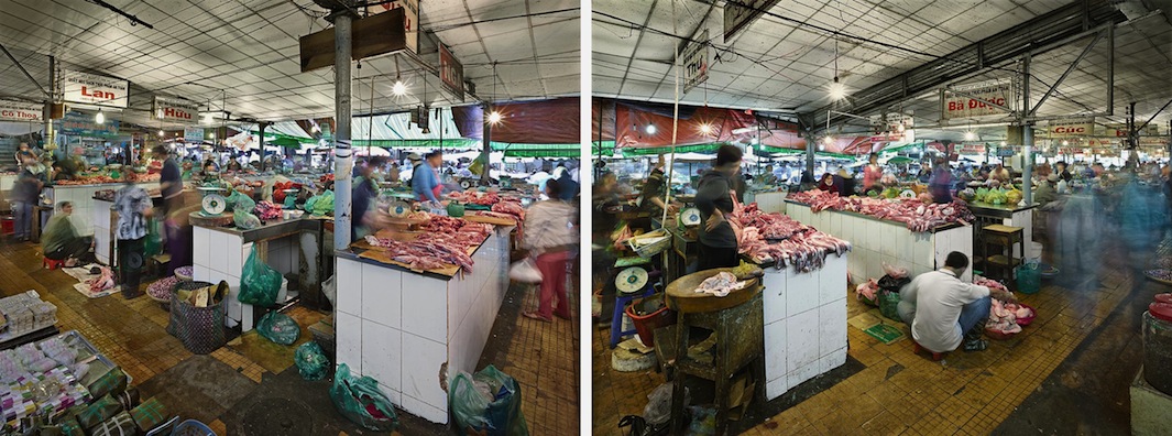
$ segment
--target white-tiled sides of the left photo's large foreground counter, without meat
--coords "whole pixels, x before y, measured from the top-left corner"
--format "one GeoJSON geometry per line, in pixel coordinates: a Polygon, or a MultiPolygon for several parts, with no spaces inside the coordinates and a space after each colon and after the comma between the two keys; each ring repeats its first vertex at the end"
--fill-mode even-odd
{"type": "Polygon", "coordinates": [[[377,380],[408,413],[448,423],[440,383],[478,369],[507,291],[511,231],[497,227],[472,272],[451,278],[338,252],[338,363],[377,380]]]}

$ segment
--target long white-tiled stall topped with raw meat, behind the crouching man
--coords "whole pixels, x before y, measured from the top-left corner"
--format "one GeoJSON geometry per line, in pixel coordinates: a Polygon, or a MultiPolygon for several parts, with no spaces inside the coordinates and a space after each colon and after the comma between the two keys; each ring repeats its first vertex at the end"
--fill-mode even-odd
{"type": "MultiPolygon", "coordinates": [[[[973,257],[973,229],[968,224],[972,216],[960,203],[928,205],[914,198],[819,196],[823,195],[791,193],[786,213],[799,223],[851,241],[854,250],[847,271],[856,281],[883,277],[884,263],[906,267],[914,275],[943,266],[953,251],[973,257]],[[827,199],[836,203],[827,204],[827,199]],[[941,211],[942,216],[935,216],[934,211],[941,211]]],[[[973,280],[972,268],[961,280],[973,280]]]]}

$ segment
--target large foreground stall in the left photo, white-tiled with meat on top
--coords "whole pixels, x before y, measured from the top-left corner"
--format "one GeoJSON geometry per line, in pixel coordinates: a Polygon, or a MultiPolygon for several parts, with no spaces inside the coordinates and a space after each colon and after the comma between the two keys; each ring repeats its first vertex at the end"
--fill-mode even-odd
{"type": "Polygon", "coordinates": [[[476,372],[504,301],[513,227],[436,217],[425,229],[336,253],[336,363],[377,380],[408,413],[447,423],[447,382],[476,372]]]}

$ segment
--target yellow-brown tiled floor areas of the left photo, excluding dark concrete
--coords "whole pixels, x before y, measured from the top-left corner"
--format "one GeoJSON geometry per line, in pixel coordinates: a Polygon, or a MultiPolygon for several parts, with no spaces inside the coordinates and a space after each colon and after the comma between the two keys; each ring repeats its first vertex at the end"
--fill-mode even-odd
{"type": "MultiPolygon", "coordinates": [[[[75,279],[61,271],[41,268],[35,245],[0,243],[0,271],[4,272],[0,274],[0,295],[38,291],[42,299],[57,306],[57,327],[62,332],[79,331],[124,368],[135,383],[192,356],[177,339],[166,334],[168,313],[157,302],[145,295],[130,301],[117,294],[88,299],[73,289],[75,279]]],[[[531,434],[575,434],[579,422],[579,340],[575,326],[565,320],[545,323],[519,316],[523,302],[525,307],[536,306],[536,295],[519,286],[511,289],[493,326],[492,339],[481,357],[481,367],[493,363],[517,379],[522,386],[522,410],[531,434]]],[[[230,347],[217,349],[211,355],[253,382],[261,383],[272,377],[255,361],[230,347]]],[[[336,415],[336,420],[345,421],[332,409],[321,410],[321,414],[336,415]]],[[[223,421],[217,420],[209,425],[219,435],[226,434],[223,421]]],[[[410,431],[404,429],[395,434],[410,431]]]]}

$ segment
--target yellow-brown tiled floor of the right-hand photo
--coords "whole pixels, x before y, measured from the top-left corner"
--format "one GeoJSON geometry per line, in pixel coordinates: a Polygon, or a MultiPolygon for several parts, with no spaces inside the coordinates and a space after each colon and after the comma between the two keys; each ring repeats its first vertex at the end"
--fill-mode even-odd
{"type": "MultiPolygon", "coordinates": [[[[942,362],[914,354],[906,339],[884,345],[850,327],[850,355],[865,369],[744,434],[990,434],[1127,297],[1132,289],[1129,274],[1110,270],[1101,286],[1090,291],[1044,286],[1037,294],[1018,294],[1037,309],[1033,325],[1008,341],[990,340],[984,352],[955,352],[942,362]]],[[[853,297],[847,301],[851,318],[871,311],[853,297]]],[[[909,336],[907,326],[895,325],[909,336]]],[[[611,369],[607,338],[608,329],[598,327],[591,341],[593,428],[595,435],[620,435],[618,420],[641,415],[647,394],[665,379],[653,370],[611,369]]]]}

